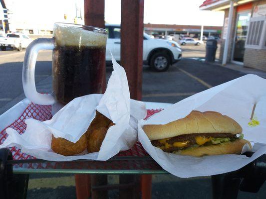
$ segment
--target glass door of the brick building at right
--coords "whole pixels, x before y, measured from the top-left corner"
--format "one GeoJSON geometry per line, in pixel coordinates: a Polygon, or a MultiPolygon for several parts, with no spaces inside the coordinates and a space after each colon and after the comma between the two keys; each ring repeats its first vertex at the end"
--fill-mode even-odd
{"type": "Polygon", "coordinates": [[[242,63],[244,61],[245,42],[247,39],[250,18],[251,11],[238,13],[232,61],[242,63]]]}

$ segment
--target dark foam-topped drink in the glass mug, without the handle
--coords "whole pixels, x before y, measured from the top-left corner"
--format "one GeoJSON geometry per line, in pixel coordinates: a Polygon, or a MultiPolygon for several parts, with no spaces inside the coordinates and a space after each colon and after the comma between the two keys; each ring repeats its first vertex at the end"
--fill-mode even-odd
{"type": "Polygon", "coordinates": [[[74,98],[101,94],[107,34],[100,28],[55,24],[53,31],[53,91],[67,104],[74,98]]]}

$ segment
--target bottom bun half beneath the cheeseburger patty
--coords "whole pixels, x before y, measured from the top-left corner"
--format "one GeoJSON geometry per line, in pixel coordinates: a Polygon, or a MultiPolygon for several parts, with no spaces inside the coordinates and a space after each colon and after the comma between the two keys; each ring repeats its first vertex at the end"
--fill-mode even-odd
{"type": "Polygon", "coordinates": [[[243,146],[248,143],[250,149],[251,143],[244,139],[238,139],[233,142],[225,142],[222,144],[213,144],[207,146],[200,146],[197,148],[187,148],[180,151],[174,151],[173,153],[179,155],[190,155],[195,157],[201,157],[205,155],[221,155],[221,154],[240,154],[243,146]]]}

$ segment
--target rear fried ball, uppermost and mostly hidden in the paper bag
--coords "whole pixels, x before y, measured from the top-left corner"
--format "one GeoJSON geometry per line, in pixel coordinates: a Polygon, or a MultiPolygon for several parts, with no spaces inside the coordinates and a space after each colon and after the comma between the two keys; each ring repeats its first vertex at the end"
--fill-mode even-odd
{"type": "Polygon", "coordinates": [[[101,114],[96,110],[95,118],[92,120],[89,128],[86,131],[87,138],[89,137],[89,134],[92,133],[93,130],[99,129],[101,127],[107,128],[111,122],[112,121],[108,117],[105,117],[103,114],[101,114]]]}

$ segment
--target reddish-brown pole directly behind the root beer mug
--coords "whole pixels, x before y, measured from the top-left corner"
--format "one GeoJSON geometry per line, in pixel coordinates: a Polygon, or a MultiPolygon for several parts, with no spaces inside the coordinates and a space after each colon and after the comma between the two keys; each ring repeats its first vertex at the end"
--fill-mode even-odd
{"type": "MultiPolygon", "coordinates": [[[[104,0],[84,0],[85,25],[104,28],[104,0]]],[[[105,71],[105,62],[103,64],[105,71]]],[[[106,89],[106,73],[102,77],[102,93],[106,89]]]]}

